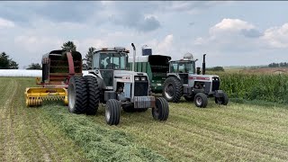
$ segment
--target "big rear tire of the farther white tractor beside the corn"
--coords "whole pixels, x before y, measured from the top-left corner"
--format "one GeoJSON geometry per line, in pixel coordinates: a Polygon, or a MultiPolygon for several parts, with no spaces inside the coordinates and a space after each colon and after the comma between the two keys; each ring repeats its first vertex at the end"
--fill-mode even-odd
{"type": "Polygon", "coordinates": [[[183,86],[181,81],[176,77],[170,76],[166,78],[164,83],[163,97],[168,102],[178,103],[183,94],[183,86]]]}

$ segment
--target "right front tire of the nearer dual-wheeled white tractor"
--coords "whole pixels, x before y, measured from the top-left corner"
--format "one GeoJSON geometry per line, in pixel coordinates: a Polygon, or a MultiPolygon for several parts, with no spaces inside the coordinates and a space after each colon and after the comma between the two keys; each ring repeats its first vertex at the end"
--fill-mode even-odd
{"type": "Polygon", "coordinates": [[[152,108],[152,116],[157,121],[166,121],[169,115],[169,106],[163,97],[156,99],[155,108],[152,108]]]}

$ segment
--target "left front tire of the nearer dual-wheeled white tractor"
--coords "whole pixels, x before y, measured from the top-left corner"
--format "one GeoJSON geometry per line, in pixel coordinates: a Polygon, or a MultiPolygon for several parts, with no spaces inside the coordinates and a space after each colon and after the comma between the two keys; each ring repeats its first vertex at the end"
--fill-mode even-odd
{"type": "Polygon", "coordinates": [[[115,99],[106,102],[105,119],[109,125],[118,125],[120,121],[121,103],[115,99]]]}

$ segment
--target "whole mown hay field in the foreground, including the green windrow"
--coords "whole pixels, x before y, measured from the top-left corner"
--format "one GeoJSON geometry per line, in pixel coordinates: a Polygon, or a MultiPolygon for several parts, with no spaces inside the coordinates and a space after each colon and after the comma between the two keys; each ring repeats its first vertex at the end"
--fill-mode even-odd
{"type": "Polygon", "coordinates": [[[169,103],[166,122],[121,111],[118,126],[62,103],[25,107],[34,78],[0,77],[0,161],[287,161],[286,106],[169,103]]]}

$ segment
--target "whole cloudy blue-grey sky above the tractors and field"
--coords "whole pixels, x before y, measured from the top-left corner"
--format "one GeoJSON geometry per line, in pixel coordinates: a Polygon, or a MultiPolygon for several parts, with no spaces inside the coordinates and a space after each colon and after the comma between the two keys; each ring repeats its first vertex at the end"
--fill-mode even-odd
{"type": "Polygon", "coordinates": [[[288,2],[0,2],[0,52],[20,68],[73,40],[89,47],[134,42],[154,54],[182,58],[207,53],[212,66],[288,62],[288,2]]]}

